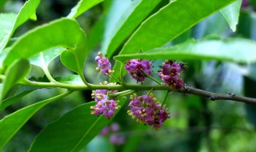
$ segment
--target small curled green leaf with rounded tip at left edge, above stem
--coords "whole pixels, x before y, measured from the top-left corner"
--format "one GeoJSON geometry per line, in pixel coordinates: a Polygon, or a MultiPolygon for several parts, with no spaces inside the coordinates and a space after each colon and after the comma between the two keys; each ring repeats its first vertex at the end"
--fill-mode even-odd
{"type": "Polygon", "coordinates": [[[20,59],[9,66],[6,70],[6,78],[3,81],[2,98],[5,98],[8,91],[16,85],[17,82],[26,78],[29,72],[30,63],[26,59],[20,59]]]}

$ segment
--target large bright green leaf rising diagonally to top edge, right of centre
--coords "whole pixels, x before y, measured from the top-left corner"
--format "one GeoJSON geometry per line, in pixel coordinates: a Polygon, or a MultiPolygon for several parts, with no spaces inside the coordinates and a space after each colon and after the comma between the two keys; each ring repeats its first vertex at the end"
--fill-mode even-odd
{"type": "MultiPolygon", "coordinates": [[[[176,0],[162,7],[157,13],[142,22],[142,25],[130,37],[120,54],[134,54],[139,50],[152,50],[165,45],[178,37],[196,23],[210,14],[222,9],[235,0],[176,0]]],[[[120,62],[114,65],[114,71],[119,71],[120,62]]],[[[114,76],[119,78],[118,73],[114,76]]],[[[110,80],[113,82],[114,80],[110,80]]]]}

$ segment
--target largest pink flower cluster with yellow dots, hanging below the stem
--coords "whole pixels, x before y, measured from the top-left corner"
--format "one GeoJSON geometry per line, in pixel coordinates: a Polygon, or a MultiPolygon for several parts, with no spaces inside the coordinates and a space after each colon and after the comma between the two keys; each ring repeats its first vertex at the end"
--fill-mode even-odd
{"type": "Polygon", "coordinates": [[[132,118],[136,118],[137,122],[154,126],[154,129],[158,130],[163,122],[169,118],[165,106],[157,102],[154,94],[146,94],[138,97],[134,94],[130,99],[130,110],[128,110],[128,114],[132,118]]]}

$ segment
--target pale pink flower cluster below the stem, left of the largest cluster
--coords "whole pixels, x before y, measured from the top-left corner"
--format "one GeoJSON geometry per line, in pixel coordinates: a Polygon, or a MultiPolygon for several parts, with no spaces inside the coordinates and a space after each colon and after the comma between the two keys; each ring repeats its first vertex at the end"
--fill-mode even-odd
{"type": "MultiPolygon", "coordinates": [[[[104,82],[103,85],[113,85],[114,83],[104,82]]],[[[91,114],[104,114],[110,119],[114,115],[114,111],[118,109],[118,101],[108,98],[108,94],[117,93],[118,90],[93,90],[92,98],[97,102],[95,106],[91,106],[91,114]]]]}

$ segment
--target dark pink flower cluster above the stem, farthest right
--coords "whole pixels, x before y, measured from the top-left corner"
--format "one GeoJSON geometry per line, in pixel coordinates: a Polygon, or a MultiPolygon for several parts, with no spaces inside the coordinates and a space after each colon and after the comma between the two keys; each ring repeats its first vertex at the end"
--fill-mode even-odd
{"type": "Polygon", "coordinates": [[[182,78],[179,75],[185,69],[185,64],[183,62],[174,62],[166,60],[161,69],[158,70],[158,76],[162,79],[163,85],[171,86],[172,89],[180,90],[185,86],[182,78]]]}

